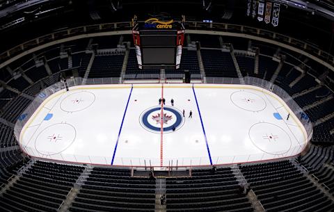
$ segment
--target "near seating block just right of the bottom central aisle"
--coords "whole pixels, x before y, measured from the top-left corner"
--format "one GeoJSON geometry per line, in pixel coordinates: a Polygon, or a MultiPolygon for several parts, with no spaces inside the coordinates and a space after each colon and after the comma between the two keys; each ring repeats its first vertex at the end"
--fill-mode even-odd
{"type": "Polygon", "coordinates": [[[192,170],[166,180],[167,211],[253,211],[231,168],[192,170]]]}

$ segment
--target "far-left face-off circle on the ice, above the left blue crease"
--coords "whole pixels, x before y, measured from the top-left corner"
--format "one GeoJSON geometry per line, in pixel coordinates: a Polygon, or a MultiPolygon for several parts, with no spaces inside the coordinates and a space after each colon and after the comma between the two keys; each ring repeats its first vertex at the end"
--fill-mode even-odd
{"type": "Polygon", "coordinates": [[[95,95],[89,91],[79,91],[68,95],[61,101],[61,110],[67,113],[84,111],[95,101],[95,95]]]}

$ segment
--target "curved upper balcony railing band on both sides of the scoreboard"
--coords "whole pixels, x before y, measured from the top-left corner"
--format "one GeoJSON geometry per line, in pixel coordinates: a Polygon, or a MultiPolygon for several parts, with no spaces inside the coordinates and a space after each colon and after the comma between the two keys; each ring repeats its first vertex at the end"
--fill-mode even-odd
{"type": "MultiPolygon", "coordinates": [[[[301,49],[307,52],[308,54],[311,54],[312,56],[316,56],[317,58],[323,60],[324,62],[329,63],[332,67],[334,65],[334,56],[326,51],[323,51],[316,44],[312,44],[310,42],[304,42],[303,40],[298,40],[295,38],[291,38],[287,35],[275,33],[272,31],[267,31],[261,28],[253,28],[250,26],[242,26],[237,24],[203,23],[195,21],[188,21],[185,23],[185,25],[187,29],[189,30],[195,29],[203,34],[208,33],[209,31],[221,31],[230,33],[230,36],[233,36],[234,33],[239,33],[239,34],[253,35],[256,37],[269,40],[275,40],[277,42],[287,44],[288,46],[301,49]]],[[[93,36],[108,35],[107,32],[111,31],[127,31],[127,33],[131,33],[131,30],[132,30],[131,22],[115,22],[115,23],[95,24],[89,26],[79,26],[76,28],[68,28],[61,31],[56,31],[54,33],[43,35],[39,38],[29,40],[27,42],[17,45],[16,47],[13,47],[12,49],[9,49],[8,51],[3,52],[2,54],[0,54],[0,68],[4,67],[5,65],[8,65],[8,63],[6,63],[5,65],[3,65],[2,63],[5,63],[10,58],[13,58],[14,56],[17,56],[35,47],[40,47],[42,44],[47,44],[64,38],[74,37],[76,35],[86,35],[86,37],[93,37],[93,36]]]]}

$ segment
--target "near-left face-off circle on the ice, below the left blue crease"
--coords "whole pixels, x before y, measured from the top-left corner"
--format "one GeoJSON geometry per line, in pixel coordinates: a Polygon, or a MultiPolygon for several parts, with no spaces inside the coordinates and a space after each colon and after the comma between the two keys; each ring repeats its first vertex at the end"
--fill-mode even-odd
{"type": "Polygon", "coordinates": [[[70,147],[77,136],[77,131],[71,124],[52,124],[38,133],[35,139],[35,149],[43,155],[54,155],[70,147]]]}

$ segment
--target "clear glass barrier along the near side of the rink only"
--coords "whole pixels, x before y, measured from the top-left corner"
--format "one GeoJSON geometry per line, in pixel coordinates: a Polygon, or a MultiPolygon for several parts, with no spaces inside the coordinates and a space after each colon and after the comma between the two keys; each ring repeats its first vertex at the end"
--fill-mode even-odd
{"type": "MultiPolygon", "coordinates": [[[[94,165],[111,165],[112,156],[93,156],[93,155],[79,155],[79,154],[53,154],[53,152],[45,152],[41,154],[35,148],[29,146],[22,146],[22,149],[26,154],[37,158],[46,158],[54,161],[67,161],[70,163],[89,163],[94,165]]],[[[271,152],[271,154],[244,154],[244,155],[224,155],[224,156],[212,156],[213,165],[225,165],[234,163],[255,163],[258,161],[270,161],[279,158],[287,158],[294,156],[303,151],[304,146],[298,145],[292,147],[292,149],[284,149],[278,152],[271,152]],[[274,154],[274,156],[273,156],[274,154]]],[[[179,158],[164,158],[163,164],[168,167],[172,164],[173,167],[189,167],[199,165],[210,165],[209,158],[203,157],[179,157],[179,158]]],[[[145,167],[148,164],[150,166],[157,167],[160,165],[160,158],[134,158],[134,157],[115,157],[113,165],[119,166],[136,166],[145,167]]]]}

